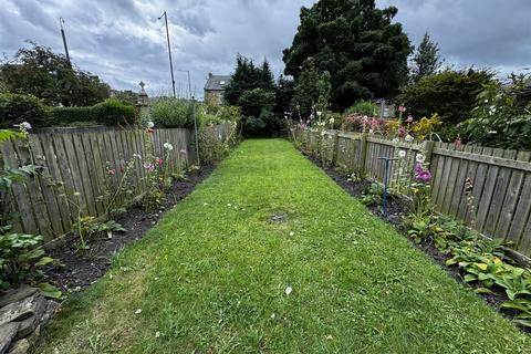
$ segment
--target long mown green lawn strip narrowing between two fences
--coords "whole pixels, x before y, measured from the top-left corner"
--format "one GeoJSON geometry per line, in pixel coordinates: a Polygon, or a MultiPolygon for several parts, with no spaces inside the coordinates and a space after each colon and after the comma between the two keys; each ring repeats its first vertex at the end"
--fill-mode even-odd
{"type": "Polygon", "coordinates": [[[261,139],[242,143],[103,279],[73,295],[38,352],[523,353],[529,345],[288,142],[261,139]],[[278,211],[288,219],[271,221],[278,211]]]}

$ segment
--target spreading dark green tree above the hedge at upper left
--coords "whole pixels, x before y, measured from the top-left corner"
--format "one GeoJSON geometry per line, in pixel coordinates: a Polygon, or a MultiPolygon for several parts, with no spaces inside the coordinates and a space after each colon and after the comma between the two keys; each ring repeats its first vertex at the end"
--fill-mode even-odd
{"type": "Polygon", "coordinates": [[[108,97],[110,87],[100,77],[73,67],[50,48],[30,43],[32,48],[20,49],[0,66],[7,91],[34,95],[51,106],[94,105],[108,97]]]}

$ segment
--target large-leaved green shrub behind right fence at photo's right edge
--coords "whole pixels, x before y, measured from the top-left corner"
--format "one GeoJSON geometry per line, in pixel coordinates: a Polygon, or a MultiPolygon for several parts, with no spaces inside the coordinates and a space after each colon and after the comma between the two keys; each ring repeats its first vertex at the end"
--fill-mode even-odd
{"type": "Polygon", "coordinates": [[[483,85],[478,106],[462,124],[467,139],[483,146],[531,149],[531,76],[511,79],[510,85],[483,85]]]}

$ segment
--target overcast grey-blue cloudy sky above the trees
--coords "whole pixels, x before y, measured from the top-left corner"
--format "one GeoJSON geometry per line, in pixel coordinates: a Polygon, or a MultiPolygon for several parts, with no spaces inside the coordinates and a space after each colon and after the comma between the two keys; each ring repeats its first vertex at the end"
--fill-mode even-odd
{"type": "MultiPolygon", "coordinates": [[[[168,12],[174,66],[189,70],[202,97],[209,72],[229,74],[241,53],[267,58],[279,74],[302,6],[310,0],[0,0],[0,53],[11,58],[24,40],[63,52],[59,18],[65,20],[73,62],[114,88],[150,95],[170,90],[166,33],[168,12]]],[[[447,63],[492,67],[502,74],[531,66],[531,0],[377,0],[398,8],[414,44],[424,32],[439,43],[447,63]]],[[[177,92],[187,92],[176,71],[177,92]]]]}

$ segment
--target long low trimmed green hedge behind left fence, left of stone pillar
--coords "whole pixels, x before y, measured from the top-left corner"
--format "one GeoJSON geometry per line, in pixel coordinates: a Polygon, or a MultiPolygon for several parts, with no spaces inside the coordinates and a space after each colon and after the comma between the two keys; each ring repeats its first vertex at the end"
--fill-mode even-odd
{"type": "Polygon", "coordinates": [[[114,98],[87,107],[56,107],[52,113],[50,125],[59,126],[79,126],[82,123],[113,126],[135,122],[135,108],[114,98]]]}

